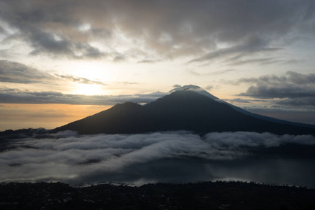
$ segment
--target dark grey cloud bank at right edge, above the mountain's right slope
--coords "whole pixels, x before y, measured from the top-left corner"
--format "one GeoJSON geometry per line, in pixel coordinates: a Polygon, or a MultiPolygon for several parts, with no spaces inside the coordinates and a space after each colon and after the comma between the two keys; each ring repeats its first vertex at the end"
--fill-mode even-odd
{"type": "Polygon", "coordinates": [[[302,74],[288,71],[284,76],[260,76],[259,78],[241,78],[239,83],[254,83],[240,96],[260,99],[284,99],[277,104],[291,106],[314,106],[315,73],[302,74]]]}

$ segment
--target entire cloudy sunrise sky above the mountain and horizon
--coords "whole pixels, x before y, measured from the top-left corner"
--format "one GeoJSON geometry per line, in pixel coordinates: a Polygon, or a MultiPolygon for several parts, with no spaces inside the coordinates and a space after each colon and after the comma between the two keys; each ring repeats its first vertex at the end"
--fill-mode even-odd
{"type": "Polygon", "coordinates": [[[0,130],[198,85],[315,124],[315,2],[0,0],[0,130]]]}

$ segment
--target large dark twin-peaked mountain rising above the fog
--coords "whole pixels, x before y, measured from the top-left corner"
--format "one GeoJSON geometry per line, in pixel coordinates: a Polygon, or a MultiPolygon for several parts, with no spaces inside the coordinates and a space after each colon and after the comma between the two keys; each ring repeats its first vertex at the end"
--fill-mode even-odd
{"type": "MultiPolygon", "coordinates": [[[[215,97],[216,98],[216,97],[215,97]]],[[[207,132],[271,132],[274,134],[315,134],[311,127],[274,123],[254,118],[190,90],[174,91],[144,106],[132,102],[57,127],[53,132],[77,131],[79,134],[134,134],[189,130],[207,132]]]]}

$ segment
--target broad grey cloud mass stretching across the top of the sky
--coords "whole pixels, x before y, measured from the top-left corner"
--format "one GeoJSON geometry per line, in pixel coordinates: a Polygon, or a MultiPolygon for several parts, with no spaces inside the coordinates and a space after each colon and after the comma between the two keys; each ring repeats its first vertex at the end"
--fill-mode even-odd
{"type": "MultiPolygon", "coordinates": [[[[297,39],[299,33],[314,33],[312,6],[307,0],[33,0],[2,2],[0,14],[36,55],[106,57],[119,51],[115,40],[123,34],[136,48],[146,49],[139,60],[151,60],[148,55],[155,52],[161,58],[188,55],[195,57],[191,62],[205,62],[279,50],[273,41],[290,32],[297,32],[297,39]],[[111,50],[103,52],[91,45],[93,41],[106,43],[111,50]],[[218,48],[219,43],[229,47],[218,48]]],[[[123,50],[120,53],[126,57],[123,50]]]]}

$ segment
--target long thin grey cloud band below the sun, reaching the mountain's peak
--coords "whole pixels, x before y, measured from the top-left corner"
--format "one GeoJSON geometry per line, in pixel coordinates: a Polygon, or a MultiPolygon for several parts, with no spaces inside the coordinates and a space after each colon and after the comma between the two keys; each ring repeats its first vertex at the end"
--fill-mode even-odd
{"type": "MultiPolygon", "coordinates": [[[[89,82],[92,83],[92,82],[89,82]]],[[[0,86],[0,103],[6,104],[85,104],[85,105],[115,105],[124,102],[148,103],[164,96],[164,92],[148,94],[125,95],[84,95],[63,94],[62,92],[31,92],[16,88],[0,86]]]]}

